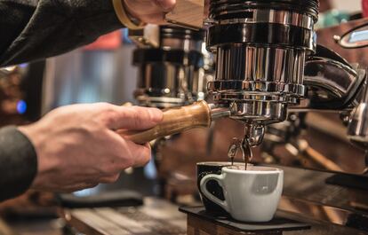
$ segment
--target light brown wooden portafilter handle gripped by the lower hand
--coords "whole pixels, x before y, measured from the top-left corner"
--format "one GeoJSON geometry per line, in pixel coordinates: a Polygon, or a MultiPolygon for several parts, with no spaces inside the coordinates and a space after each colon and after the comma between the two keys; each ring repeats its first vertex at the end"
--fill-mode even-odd
{"type": "Polygon", "coordinates": [[[123,137],[136,144],[145,144],[156,138],[178,134],[188,129],[208,128],[211,121],[230,116],[227,108],[213,108],[205,101],[190,106],[174,107],[164,110],[164,119],[156,127],[139,132],[118,131],[123,137]]]}

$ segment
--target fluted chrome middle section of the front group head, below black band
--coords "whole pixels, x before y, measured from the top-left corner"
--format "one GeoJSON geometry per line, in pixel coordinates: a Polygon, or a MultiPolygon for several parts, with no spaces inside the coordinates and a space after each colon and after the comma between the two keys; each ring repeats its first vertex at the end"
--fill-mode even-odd
{"type": "Polygon", "coordinates": [[[277,101],[304,95],[305,51],[235,44],[219,48],[217,56],[216,81],[209,88],[220,99],[228,91],[255,100],[262,95],[277,101]]]}

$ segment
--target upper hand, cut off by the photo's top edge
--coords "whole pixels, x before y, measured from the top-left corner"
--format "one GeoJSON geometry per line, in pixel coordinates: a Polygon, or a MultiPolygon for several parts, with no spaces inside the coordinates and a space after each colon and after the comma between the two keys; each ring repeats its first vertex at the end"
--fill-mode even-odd
{"type": "Polygon", "coordinates": [[[164,24],[164,14],[171,12],[176,0],[122,0],[134,17],[150,24],[164,24]]]}

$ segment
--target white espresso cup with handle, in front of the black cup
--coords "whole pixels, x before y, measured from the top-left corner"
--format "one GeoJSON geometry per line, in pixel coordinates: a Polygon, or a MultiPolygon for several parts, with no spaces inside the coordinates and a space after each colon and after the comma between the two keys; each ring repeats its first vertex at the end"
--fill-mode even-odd
{"type": "Polygon", "coordinates": [[[243,222],[268,222],[276,213],[284,186],[284,171],[279,168],[250,166],[224,167],[221,175],[204,176],[201,191],[207,199],[243,222]],[[220,200],[207,190],[209,181],[217,181],[224,192],[220,200]]]}

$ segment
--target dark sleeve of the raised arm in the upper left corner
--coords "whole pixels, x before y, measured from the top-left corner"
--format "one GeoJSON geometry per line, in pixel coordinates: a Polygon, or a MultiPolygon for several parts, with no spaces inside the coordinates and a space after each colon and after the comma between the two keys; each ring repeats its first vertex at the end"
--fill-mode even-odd
{"type": "Polygon", "coordinates": [[[111,0],[1,0],[0,67],[59,55],[120,27],[111,0]]]}

